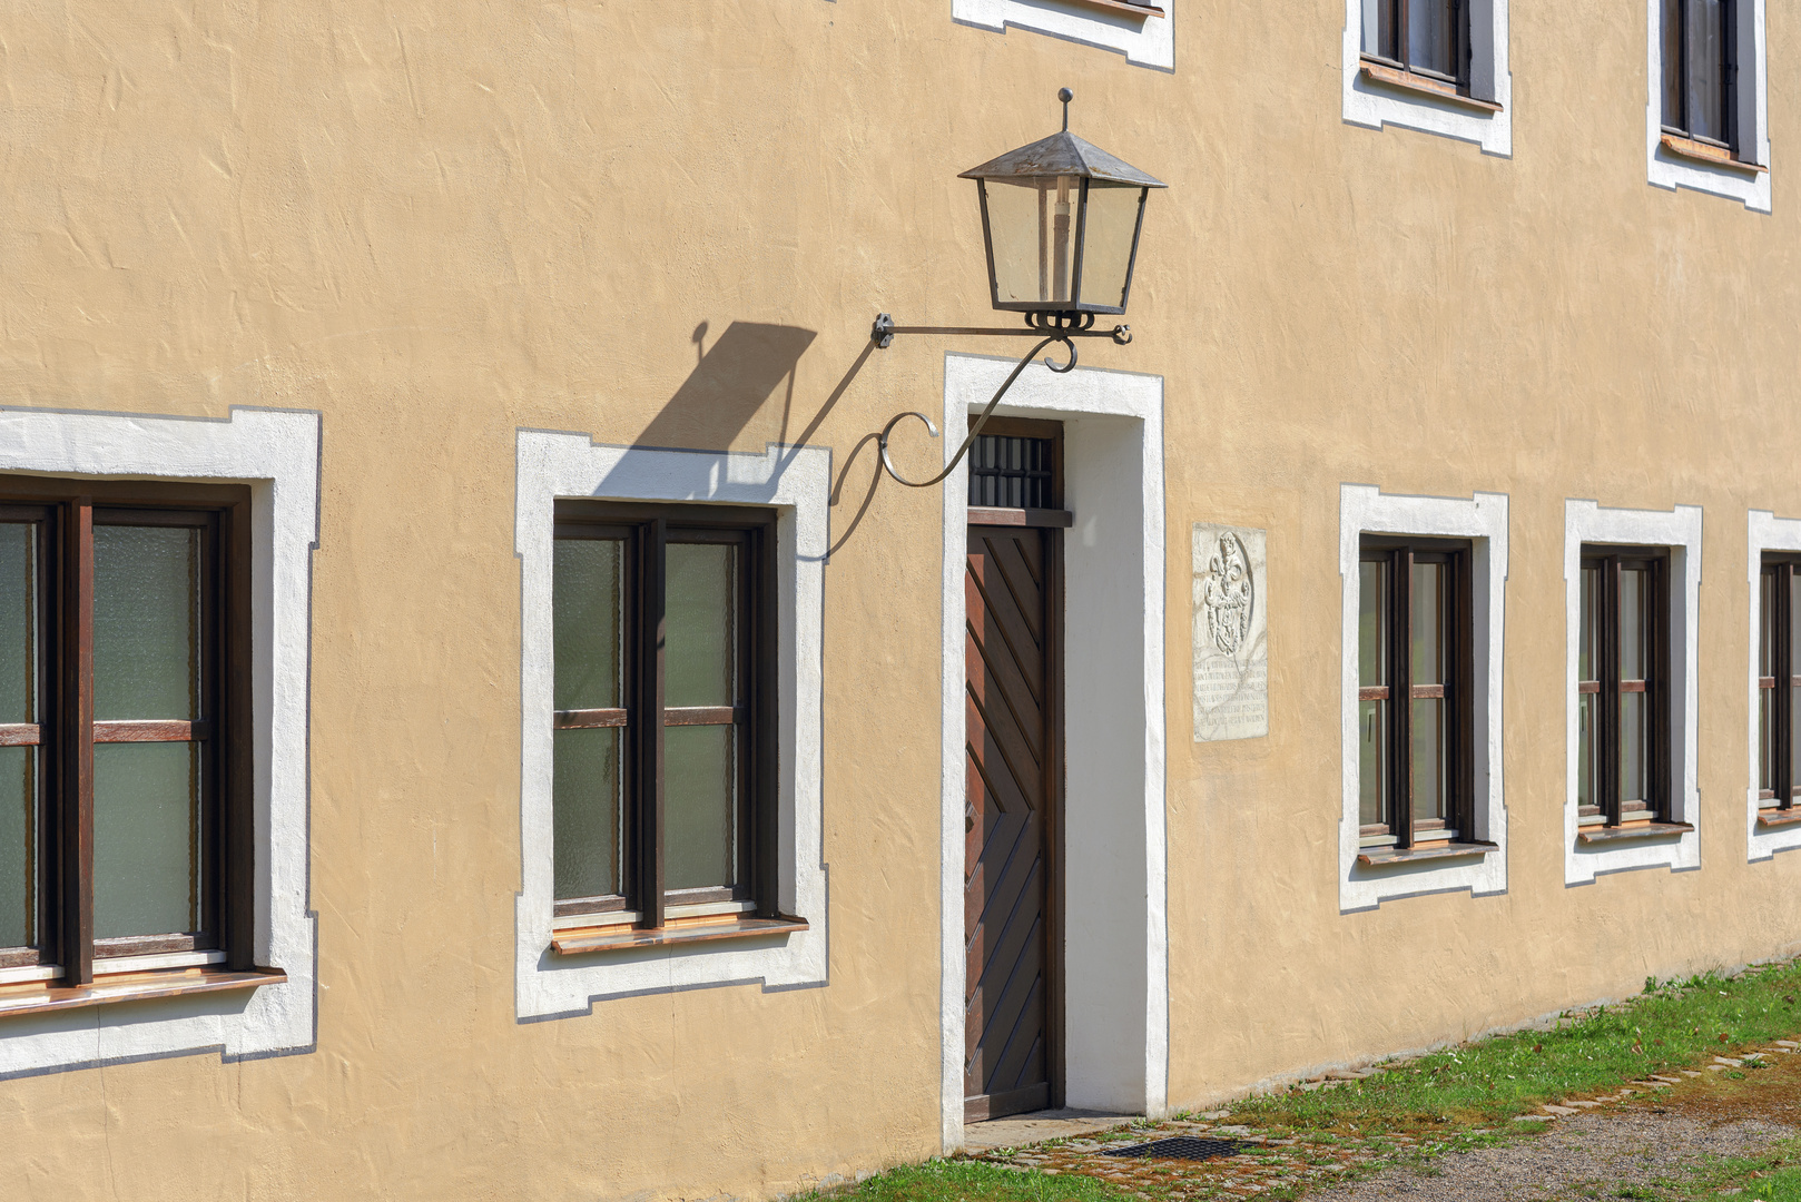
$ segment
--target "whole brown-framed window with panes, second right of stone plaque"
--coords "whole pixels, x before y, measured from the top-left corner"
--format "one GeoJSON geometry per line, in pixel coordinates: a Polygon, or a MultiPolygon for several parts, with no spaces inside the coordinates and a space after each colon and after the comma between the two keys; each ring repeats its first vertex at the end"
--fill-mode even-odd
{"type": "Polygon", "coordinates": [[[1576,822],[1670,822],[1670,553],[1585,546],[1576,651],[1576,822]]]}

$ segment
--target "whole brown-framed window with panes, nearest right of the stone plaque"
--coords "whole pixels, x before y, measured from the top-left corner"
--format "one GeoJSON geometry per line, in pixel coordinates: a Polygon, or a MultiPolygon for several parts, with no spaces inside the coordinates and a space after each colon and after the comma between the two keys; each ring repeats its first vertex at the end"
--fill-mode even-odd
{"type": "Polygon", "coordinates": [[[1358,562],[1363,847],[1473,842],[1468,542],[1365,535],[1358,562]]]}

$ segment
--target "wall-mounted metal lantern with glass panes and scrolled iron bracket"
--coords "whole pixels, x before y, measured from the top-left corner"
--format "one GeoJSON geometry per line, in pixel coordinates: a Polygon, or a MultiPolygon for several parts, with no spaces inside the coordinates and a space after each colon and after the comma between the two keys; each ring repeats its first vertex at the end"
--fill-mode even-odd
{"type": "Polygon", "coordinates": [[[890,418],[877,440],[882,467],[910,488],[937,485],[956,470],[994,405],[1027,364],[1052,342],[1063,342],[1070,351],[1063,366],[1045,360],[1052,371],[1075,369],[1073,339],[1109,337],[1120,346],[1131,342],[1129,326],[1095,330],[1095,315],[1126,312],[1145,202],[1153,187],[1167,184],[1070,133],[1070,101],[1075,94],[1059,88],[1057,99],[1063,101],[1061,132],[958,177],[976,182],[994,308],[1023,314],[1025,328],[897,326],[888,314],[877,314],[870,326],[870,339],[882,348],[897,333],[1039,337],[1037,346],[1014,366],[971,425],[969,438],[949,465],[931,479],[900,476],[888,458],[888,436],[910,416],[924,422],[933,438],[938,436],[938,427],[924,413],[897,413],[890,418]]]}

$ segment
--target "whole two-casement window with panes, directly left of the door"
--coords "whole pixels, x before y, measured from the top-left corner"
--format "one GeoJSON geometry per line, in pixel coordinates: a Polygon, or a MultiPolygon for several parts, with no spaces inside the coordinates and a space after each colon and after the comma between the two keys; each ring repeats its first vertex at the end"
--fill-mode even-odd
{"type": "Polygon", "coordinates": [[[780,917],[773,553],[769,510],[557,503],[558,915],[780,917]]]}

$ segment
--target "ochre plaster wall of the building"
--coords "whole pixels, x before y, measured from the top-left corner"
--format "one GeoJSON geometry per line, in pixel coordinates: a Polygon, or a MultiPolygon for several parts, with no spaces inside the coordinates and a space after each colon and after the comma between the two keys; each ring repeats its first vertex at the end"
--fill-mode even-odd
{"type": "MultiPolygon", "coordinates": [[[[1646,186],[1643,7],[1515,11],[1513,159],[1344,124],[1331,0],[1176,16],[1167,74],[942,0],[0,11],[0,404],[324,422],[319,1047],[0,1083],[0,1193],[767,1197],[938,1150],[938,506],[861,440],[946,346],[866,330],[983,319],[955,173],[1059,85],[1171,184],[1136,342],[1084,348],[1165,377],[1171,1101],[1797,939],[1740,780],[1743,514],[1801,514],[1785,177],[1776,216],[1646,186]],[[828,988],[513,1020],[519,427],[834,449],[828,988]],[[1504,897],[1338,914],[1340,481],[1511,496],[1504,897]],[[1569,496],[1706,506],[1700,872],[1563,888],[1569,496]],[[1199,519],[1270,530],[1263,741],[1185,741],[1199,519]]],[[[1769,47],[1781,171],[1779,5],[1769,47]]]]}

